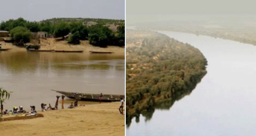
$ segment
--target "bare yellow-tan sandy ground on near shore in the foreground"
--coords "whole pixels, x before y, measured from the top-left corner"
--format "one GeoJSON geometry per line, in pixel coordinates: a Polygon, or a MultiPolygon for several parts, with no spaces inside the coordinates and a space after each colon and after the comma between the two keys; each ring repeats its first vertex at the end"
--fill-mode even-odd
{"type": "Polygon", "coordinates": [[[120,102],[40,112],[44,117],[0,122],[0,135],[10,136],[124,136],[125,115],[120,102]]]}

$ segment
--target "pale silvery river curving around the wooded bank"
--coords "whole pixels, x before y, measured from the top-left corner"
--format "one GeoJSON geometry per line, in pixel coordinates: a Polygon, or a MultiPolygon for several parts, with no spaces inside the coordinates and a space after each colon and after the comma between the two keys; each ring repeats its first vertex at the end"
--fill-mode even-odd
{"type": "Polygon", "coordinates": [[[159,31],[198,48],[207,74],[169,110],[156,109],[126,127],[127,136],[254,136],[256,46],[203,35],[159,31]]]}

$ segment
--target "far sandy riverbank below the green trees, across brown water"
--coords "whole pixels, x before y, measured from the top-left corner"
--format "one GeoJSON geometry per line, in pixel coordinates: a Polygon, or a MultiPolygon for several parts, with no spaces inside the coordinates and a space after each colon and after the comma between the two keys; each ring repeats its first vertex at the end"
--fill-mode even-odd
{"type": "MultiPolygon", "coordinates": [[[[0,42],[2,48],[12,48],[10,51],[26,51],[25,48],[14,46],[12,43],[0,42]]],[[[83,50],[84,52],[89,51],[105,51],[125,54],[125,48],[118,46],[108,46],[107,48],[100,48],[92,46],[89,41],[81,41],[79,45],[70,45],[67,41],[56,41],[54,38],[40,39],[40,45],[42,50],[68,50],[76,51],[83,50]]]]}

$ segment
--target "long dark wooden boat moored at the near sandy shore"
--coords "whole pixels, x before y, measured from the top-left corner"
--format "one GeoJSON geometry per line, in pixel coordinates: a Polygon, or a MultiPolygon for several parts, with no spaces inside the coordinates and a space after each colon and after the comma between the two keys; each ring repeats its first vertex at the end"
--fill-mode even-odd
{"type": "MultiPolygon", "coordinates": [[[[58,91],[58,90],[52,90],[56,91],[60,94],[65,95],[66,97],[70,99],[75,99],[78,101],[100,101],[100,94],[85,94],[85,93],[74,93],[74,92],[65,92],[65,91],[58,91]]],[[[113,101],[120,101],[123,98],[125,99],[125,95],[106,95],[103,94],[102,102],[113,102],[113,101]]]]}

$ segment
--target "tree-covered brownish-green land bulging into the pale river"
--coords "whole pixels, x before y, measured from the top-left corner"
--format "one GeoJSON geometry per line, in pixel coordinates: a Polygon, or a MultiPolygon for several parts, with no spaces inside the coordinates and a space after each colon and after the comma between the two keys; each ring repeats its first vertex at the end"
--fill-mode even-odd
{"type": "Polygon", "coordinates": [[[193,46],[166,35],[126,31],[126,123],[155,108],[170,108],[188,95],[206,72],[207,60],[193,46]]]}

